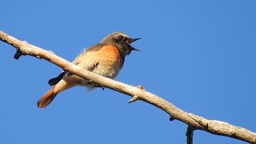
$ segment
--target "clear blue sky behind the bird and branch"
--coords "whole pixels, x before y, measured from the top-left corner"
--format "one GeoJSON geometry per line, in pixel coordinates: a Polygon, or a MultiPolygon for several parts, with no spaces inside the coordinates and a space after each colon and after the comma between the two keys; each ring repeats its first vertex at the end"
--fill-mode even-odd
{"type": "MultiPolygon", "coordinates": [[[[0,30],[72,61],[106,34],[142,38],[116,78],[186,112],[256,131],[256,1],[2,1],[0,30]]],[[[1,144],[186,143],[186,124],[113,90],[36,102],[61,71],[0,42],[1,144]]],[[[245,143],[195,131],[194,143],[245,143]]]]}

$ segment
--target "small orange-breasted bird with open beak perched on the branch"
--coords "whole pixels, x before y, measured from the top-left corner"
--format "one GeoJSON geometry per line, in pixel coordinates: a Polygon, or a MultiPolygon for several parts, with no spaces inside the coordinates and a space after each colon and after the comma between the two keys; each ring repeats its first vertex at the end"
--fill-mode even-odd
{"type": "MultiPolygon", "coordinates": [[[[122,69],[126,56],[133,50],[140,51],[130,46],[138,39],[140,38],[130,38],[122,32],[108,34],[101,42],[83,50],[72,63],[95,74],[114,79],[122,69]]],[[[52,87],[38,100],[38,108],[45,108],[59,93],[74,86],[85,86],[88,90],[102,87],[64,70],[58,77],[51,78],[48,84],[52,87]]]]}

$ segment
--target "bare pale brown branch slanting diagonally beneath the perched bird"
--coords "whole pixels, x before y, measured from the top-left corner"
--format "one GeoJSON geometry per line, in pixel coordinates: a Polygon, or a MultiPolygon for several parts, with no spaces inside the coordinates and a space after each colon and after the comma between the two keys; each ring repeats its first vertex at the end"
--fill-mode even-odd
{"type": "MultiPolygon", "coordinates": [[[[0,40],[14,46],[17,49],[14,58],[18,59],[22,55],[30,55],[35,58],[45,59],[46,61],[61,67],[63,70],[70,72],[70,74],[77,74],[82,78],[89,79],[91,82],[94,82],[99,86],[104,86],[109,89],[116,90],[122,94],[131,96],[132,99],[130,99],[129,102],[142,100],[153,106],[157,106],[170,115],[170,120],[177,119],[178,121],[186,123],[189,127],[188,129],[193,128],[188,132],[190,133],[188,134],[189,137],[192,136],[193,130],[204,130],[210,134],[218,134],[230,138],[240,139],[245,142],[256,143],[256,134],[254,132],[246,130],[242,127],[230,125],[226,122],[208,120],[194,114],[186,113],[185,111],[178,109],[178,107],[174,106],[170,102],[166,102],[166,100],[159,98],[157,95],[147,92],[142,86],[134,87],[122,82],[114,81],[110,78],[102,77],[98,74],[94,74],[88,70],[75,66],[74,64],[58,57],[50,51],[42,50],[41,48],[30,45],[24,41],[19,41],[18,39],[13,38],[2,31],[0,31],[0,40]]],[[[190,139],[190,141],[192,142],[192,139],[190,139]]]]}

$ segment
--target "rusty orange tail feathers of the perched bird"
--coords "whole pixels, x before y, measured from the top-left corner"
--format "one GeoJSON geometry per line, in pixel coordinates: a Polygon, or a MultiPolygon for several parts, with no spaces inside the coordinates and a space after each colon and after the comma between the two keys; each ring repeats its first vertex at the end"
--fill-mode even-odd
{"type": "Polygon", "coordinates": [[[38,100],[39,108],[45,108],[46,106],[48,106],[50,104],[50,102],[52,102],[54,100],[54,98],[58,94],[57,92],[54,93],[54,87],[51,88],[49,91],[47,91],[47,93],[45,95],[43,95],[42,98],[40,98],[38,100]]]}

